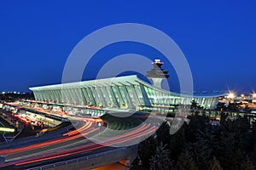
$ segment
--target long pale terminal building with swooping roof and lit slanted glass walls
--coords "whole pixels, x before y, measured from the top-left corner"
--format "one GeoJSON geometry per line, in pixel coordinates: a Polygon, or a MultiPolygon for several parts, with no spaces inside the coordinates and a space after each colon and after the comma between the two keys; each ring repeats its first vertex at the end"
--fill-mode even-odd
{"type": "Polygon", "coordinates": [[[213,109],[224,94],[176,94],[144,82],[137,76],[125,76],[71,82],[30,88],[35,99],[57,104],[93,105],[109,109],[137,109],[140,106],[160,107],[190,105],[192,100],[213,109]]]}

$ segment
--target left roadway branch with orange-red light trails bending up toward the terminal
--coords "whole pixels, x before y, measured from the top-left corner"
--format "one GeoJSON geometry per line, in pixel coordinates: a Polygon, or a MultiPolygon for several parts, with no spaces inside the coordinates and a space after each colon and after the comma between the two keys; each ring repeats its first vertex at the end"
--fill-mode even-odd
{"type": "Polygon", "coordinates": [[[96,131],[94,124],[95,122],[89,119],[83,123],[80,122],[79,129],[69,132],[67,129],[62,129],[54,135],[21,139],[11,144],[1,144],[0,155],[6,156],[6,163],[0,165],[0,167],[35,160],[35,158],[42,159],[61,155],[64,152],[78,148],[81,144],[90,144],[90,140],[85,139],[84,135],[96,131]]]}

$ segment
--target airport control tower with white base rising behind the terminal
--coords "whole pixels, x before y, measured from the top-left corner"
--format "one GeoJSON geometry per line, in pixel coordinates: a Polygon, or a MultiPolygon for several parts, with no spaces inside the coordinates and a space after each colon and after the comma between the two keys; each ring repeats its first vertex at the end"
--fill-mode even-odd
{"type": "Polygon", "coordinates": [[[146,77],[152,79],[155,87],[161,88],[162,80],[169,77],[168,71],[164,71],[164,69],[161,68],[164,63],[160,62],[160,59],[154,59],[154,63],[152,63],[152,65],[154,67],[151,71],[147,71],[146,77]]]}

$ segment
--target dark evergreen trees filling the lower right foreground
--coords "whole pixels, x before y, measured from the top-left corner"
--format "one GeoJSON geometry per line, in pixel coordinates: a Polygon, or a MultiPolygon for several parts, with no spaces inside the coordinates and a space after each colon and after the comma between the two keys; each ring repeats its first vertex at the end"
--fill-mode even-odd
{"type": "Polygon", "coordinates": [[[230,120],[224,113],[220,126],[212,126],[207,116],[193,115],[190,122],[170,135],[170,123],[144,140],[138,149],[145,169],[243,169],[256,167],[256,123],[247,116],[230,120]]]}

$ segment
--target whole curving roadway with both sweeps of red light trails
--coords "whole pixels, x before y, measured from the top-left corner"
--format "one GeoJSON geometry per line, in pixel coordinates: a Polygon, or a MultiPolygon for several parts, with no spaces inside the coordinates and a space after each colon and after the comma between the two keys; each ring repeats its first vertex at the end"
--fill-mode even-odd
{"type": "Polygon", "coordinates": [[[125,131],[100,129],[101,127],[97,126],[95,119],[91,118],[79,118],[77,122],[79,122],[79,126],[76,126],[78,129],[68,130],[65,128],[55,132],[55,135],[45,135],[38,139],[20,139],[12,144],[1,144],[0,155],[5,155],[6,161],[4,164],[0,164],[0,168],[24,169],[80,156],[89,156],[104,150],[112,150],[112,146],[119,146],[119,144],[129,145],[131,141],[139,142],[157,129],[154,123],[150,122],[142,122],[139,127],[125,131]],[[102,132],[103,130],[104,132],[102,132]]]}

